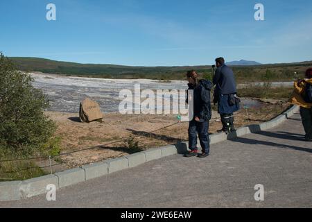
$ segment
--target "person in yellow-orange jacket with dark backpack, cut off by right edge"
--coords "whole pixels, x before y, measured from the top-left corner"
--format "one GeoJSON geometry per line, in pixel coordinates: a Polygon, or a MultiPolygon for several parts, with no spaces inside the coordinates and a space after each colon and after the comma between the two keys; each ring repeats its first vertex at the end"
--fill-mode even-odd
{"type": "Polygon", "coordinates": [[[300,106],[300,116],[306,141],[312,142],[312,68],[306,70],[306,78],[294,83],[294,92],[289,103],[300,106]]]}

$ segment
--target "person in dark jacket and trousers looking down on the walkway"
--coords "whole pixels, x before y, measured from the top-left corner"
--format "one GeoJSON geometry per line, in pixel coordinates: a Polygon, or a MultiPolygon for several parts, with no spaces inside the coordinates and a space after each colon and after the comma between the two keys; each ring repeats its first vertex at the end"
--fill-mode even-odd
{"type": "MultiPolygon", "coordinates": [[[[184,157],[207,157],[210,151],[209,120],[211,119],[210,92],[212,83],[199,80],[196,71],[187,72],[189,89],[193,90],[193,119],[189,122],[189,151],[184,157]],[[200,139],[202,153],[198,154],[197,134],[200,139]]],[[[187,101],[188,103],[188,101],[187,101]]]]}

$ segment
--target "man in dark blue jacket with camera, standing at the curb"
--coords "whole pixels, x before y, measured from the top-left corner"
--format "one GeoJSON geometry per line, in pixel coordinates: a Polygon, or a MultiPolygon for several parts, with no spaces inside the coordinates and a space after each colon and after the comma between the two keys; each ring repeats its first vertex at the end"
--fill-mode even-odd
{"type": "Polygon", "coordinates": [[[232,69],[225,65],[224,58],[216,58],[216,74],[214,75],[214,103],[218,103],[223,128],[218,133],[230,133],[234,128],[234,112],[239,110],[239,103],[235,103],[236,83],[232,69]],[[234,103],[233,103],[234,102],[234,103]]]}

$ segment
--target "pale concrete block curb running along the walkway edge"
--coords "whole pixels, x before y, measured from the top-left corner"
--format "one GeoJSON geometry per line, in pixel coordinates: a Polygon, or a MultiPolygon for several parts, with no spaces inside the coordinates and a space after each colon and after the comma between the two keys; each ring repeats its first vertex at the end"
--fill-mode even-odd
{"type": "MultiPolygon", "coordinates": [[[[250,133],[258,133],[261,130],[268,130],[278,126],[287,118],[293,116],[299,110],[298,106],[293,106],[283,114],[275,119],[259,125],[244,126],[237,129],[229,135],[214,134],[209,135],[210,144],[223,142],[227,139],[234,139],[250,133]]],[[[76,169],[69,169],[53,175],[42,176],[40,178],[33,178],[24,181],[0,182],[0,201],[6,200],[20,200],[21,198],[29,198],[46,193],[47,185],[55,185],[56,189],[75,185],[78,182],[91,180],[105,176],[108,173],[114,173],[123,169],[137,167],[140,164],[157,160],[162,157],[168,157],[177,153],[185,153],[188,150],[188,142],[181,142],[179,144],[167,145],[159,148],[151,148],[147,151],[119,157],[116,159],[105,160],[94,164],[88,164],[76,169]]]]}

